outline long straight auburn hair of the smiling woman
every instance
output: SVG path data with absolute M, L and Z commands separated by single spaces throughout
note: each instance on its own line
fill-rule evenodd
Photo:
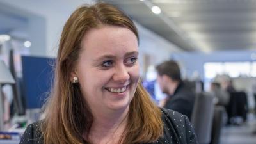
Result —
M 67 20 L 60 39 L 56 58 L 54 86 L 45 105 L 42 136 L 45 144 L 90 143 L 83 132 L 90 132 L 93 115 L 84 100 L 79 84 L 70 82 L 70 73 L 81 51 L 81 40 L 86 31 L 102 25 L 130 29 L 137 37 L 136 26 L 127 15 L 111 4 L 96 3 L 77 8 Z M 152 102 L 139 82 L 128 114 L 127 129 L 122 135 L 123 144 L 156 141 L 163 135 L 160 109 Z

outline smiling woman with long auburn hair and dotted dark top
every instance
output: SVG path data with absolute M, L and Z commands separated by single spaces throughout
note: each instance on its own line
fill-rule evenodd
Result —
M 159 109 L 139 76 L 138 31 L 106 3 L 66 22 L 46 117 L 20 143 L 197 143 L 186 116 Z

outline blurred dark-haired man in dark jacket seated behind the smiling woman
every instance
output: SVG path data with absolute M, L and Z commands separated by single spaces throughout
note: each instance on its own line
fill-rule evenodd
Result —
M 157 83 L 168 97 L 160 106 L 172 109 L 191 118 L 195 102 L 195 91 L 181 79 L 179 65 L 175 61 L 164 61 L 157 65 Z

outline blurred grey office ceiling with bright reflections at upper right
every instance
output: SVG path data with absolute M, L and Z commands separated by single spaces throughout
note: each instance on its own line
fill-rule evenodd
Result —
M 255 0 L 105 0 L 185 51 L 256 48 Z M 156 15 L 153 5 L 161 8 Z

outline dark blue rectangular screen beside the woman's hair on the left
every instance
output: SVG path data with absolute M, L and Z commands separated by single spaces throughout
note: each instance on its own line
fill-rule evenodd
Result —
M 54 77 L 54 58 L 22 56 L 22 77 L 26 108 L 42 108 Z

